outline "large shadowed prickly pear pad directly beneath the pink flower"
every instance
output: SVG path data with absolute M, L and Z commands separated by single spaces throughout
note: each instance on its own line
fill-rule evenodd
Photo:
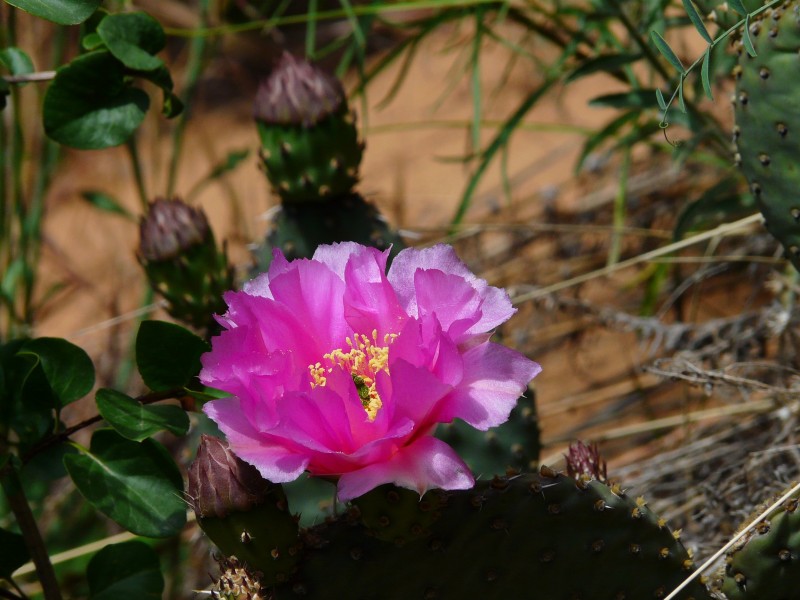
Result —
M 644 500 L 598 481 L 543 469 L 434 491 L 421 501 L 433 500 L 428 511 L 388 492 L 373 492 L 366 524 L 356 509 L 305 531 L 303 564 L 278 597 L 644 600 L 665 597 L 692 568 Z M 710 596 L 694 583 L 679 597 Z

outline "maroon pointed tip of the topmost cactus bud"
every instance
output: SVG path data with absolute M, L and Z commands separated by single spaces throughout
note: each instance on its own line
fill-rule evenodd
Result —
M 284 52 L 258 88 L 253 116 L 274 125 L 310 127 L 336 113 L 344 101 L 336 77 Z

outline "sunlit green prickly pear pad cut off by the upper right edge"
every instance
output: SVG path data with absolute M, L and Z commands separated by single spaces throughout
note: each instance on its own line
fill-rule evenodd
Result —
M 800 4 L 790 0 L 761 13 L 750 38 L 756 57 L 737 42 L 736 162 L 767 230 L 800 269 Z

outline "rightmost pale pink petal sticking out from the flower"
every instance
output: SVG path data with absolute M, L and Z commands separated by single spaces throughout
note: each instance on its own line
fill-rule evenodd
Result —
M 442 403 L 436 419 L 462 419 L 481 431 L 508 420 L 528 382 L 542 368 L 519 352 L 487 342 L 464 353 L 464 380 Z

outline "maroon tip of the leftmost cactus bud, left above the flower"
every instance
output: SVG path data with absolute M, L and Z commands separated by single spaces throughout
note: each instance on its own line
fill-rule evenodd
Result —
M 148 261 L 175 258 L 208 237 L 205 213 L 180 200 L 157 198 L 139 224 L 139 253 Z

